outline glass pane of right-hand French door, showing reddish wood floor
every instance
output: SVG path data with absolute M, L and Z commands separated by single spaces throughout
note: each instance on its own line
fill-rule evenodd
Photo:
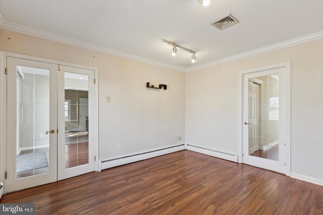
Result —
M 88 164 L 88 75 L 65 72 L 65 168 Z

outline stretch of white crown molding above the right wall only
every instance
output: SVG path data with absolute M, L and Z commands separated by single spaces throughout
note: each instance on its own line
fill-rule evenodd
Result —
M 305 42 L 309 42 L 309 41 L 313 41 L 313 40 L 317 40 L 317 39 L 322 39 L 322 38 L 323 38 L 323 31 L 319 31 L 319 32 L 316 32 L 316 33 L 312 33 L 312 34 L 302 36 L 302 37 L 297 37 L 295 39 L 287 40 L 285 42 L 277 43 L 277 44 L 274 44 L 274 45 L 254 49 L 254 50 L 247 51 L 247 52 L 237 54 L 237 55 L 234 55 L 234 56 L 226 57 L 226 58 L 223 58 L 223 59 L 220 59 L 220 60 L 212 61 L 212 62 L 209 62 L 209 63 L 204 63 L 204 64 L 201 64 L 201 65 L 198 65 L 198 66 L 191 66 L 191 67 L 187 68 L 185 71 L 187 73 L 189 73 L 190 71 L 196 71 L 196 70 L 199 70 L 199 69 L 202 69 L 202 68 L 207 68 L 207 67 L 211 67 L 211 66 L 214 66 L 214 65 L 219 65 L 219 64 L 223 64 L 223 63 L 243 59 L 243 58 L 246 58 L 246 57 L 251 57 L 251 56 L 254 56 L 254 55 L 258 55 L 258 54 L 262 54 L 262 53 L 266 53 L 266 52 L 274 51 L 274 50 L 277 50 L 277 49 L 282 49 L 282 48 L 286 48 L 286 47 L 290 47 L 290 46 L 293 46 L 293 45 L 297 45 L 297 44 L 301 44 L 301 43 L 305 43 Z

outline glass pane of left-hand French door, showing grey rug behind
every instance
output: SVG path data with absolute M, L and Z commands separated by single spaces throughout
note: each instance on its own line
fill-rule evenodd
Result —
M 17 66 L 16 178 L 49 172 L 49 69 Z

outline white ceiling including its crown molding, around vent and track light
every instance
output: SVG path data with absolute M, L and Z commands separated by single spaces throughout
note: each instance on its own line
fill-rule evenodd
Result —
M 239 23 L 210 24 L 229 13 Z M 0 28 L 192 71 L 323 38 L 323 0 L 0 0 Z M 196 62 L 161 39 L 195 51 Z

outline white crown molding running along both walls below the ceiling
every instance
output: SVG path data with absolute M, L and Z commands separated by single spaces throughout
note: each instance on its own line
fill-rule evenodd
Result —
M 223 64 L 223 63 L 243 59 L 246 57 L 251 57 L 254 55 L 258 55 L 258 54 L 274 51 L 277 49 L 286 48 L 289 46 L 293 46 L 293 45 L 297 45 L 297 44 L 301 44 L 301 43 L 305 43 L 305 42 L 309 42 L 312 40 L 317 40 L 317 39 L 323 38 L 323 31 L 319 31 L 319 32 L 308 34 L 308 35 L 298 37 L 295 39 L 287 40 L 285 42 L 277 43 L 277 44 L 266 46 L 263 48 L 254 49 L 254 50 L 247 51 L 247 52 L 244 52 L 241 54 L 226 57 L 226 58 L 223 58 L 220 60 L 216 60 L 216 61 L 212 61 L 209 63 L 204 63 L 204 64 L 200 64 L 200 65 L 196 65 L 196 66 L 190 66 L 187 68 L 185 66 L 174 66 L 174 65 L 170 65 L 170 64 L 166 64 L 166 63 L 161 63 L 161 62 L 150 60 L 147 58 L 138 57 L 138 56 L 135 56 L 132 54 L 127 54 L 127 53 L 124 53 L 121 51 L 116 51 L 116 50 L 113 50 L 110 48 L 104 48 L 102 46 L 82 42 L 79 40 L 71 39 L 71 38 L 60 36 L 57 34 L 52 34 L 52 33 L 38 30 L 38 29 L 29 28 L 26 26 L 7 22 L 7 21 L 3 20 L 1 14 L 0 14 L 0 28 L 6 29 L 6 30 L 11 30 L 11 31 L 16 31 L 19 33 L 24 33 L 24 34 L 28 34 L 28 35 L 32 35 L 32 36 L 36 36 L 36 37 L 41 37 L 44 39 L 49 39 L 49 40 L 53 40 L 53 41 L 57 41 L 57 42 L 62 42 L 65 44 L 69 44 L 69 45 L 73 45 L 73 46 L 77 46 L 77 47 L 81 47 L 81 48 L 86 48 L 89 50 L 98 51 L 98 52 L 105 53 L 105 54 L 111 54 L 114 56 L 123 57 L 126 59 L 135 60 L 138 62 L 150 64 L 150 65 L 155 65 L 155 66 L 159 66 L 159 67 L 163 67 L 163 68 L 167 68 L 167 69 L 181 71 L 183 73 L 189 73 L 191 71 L 196 71 L 196 70 L 211 67 L 214 65 L 219 65 L 219 64 Z

